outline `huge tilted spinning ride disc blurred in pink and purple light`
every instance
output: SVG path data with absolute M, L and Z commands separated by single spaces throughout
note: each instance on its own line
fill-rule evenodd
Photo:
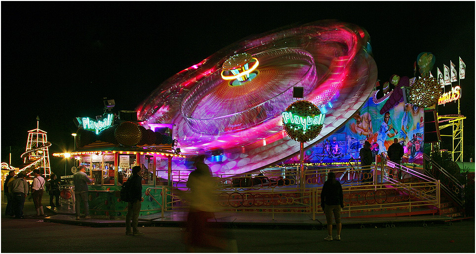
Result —
M 326 20 L 234 43 L 163 82 L 137 107 L 138 117 L 174 124 L 183 154 L 219 158 L 208 158 L 214 174 L 277 164 L 299 153 L 282 127 L 293 86 L 303 86 L 304 99 L 325 114 L 320 134 L 305 148 L 343 126 L 367 100 L 377 80 L 368 40 L 356 25 Z

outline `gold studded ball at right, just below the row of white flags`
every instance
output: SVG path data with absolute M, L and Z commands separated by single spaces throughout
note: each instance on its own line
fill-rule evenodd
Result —
M 410 89 L 413 105 L 428 108 L 435 105 L 441 96 L 441 86 L 435 78 L 421 78 Z

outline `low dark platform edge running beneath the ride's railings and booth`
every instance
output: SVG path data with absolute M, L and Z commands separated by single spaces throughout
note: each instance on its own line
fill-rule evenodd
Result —
M 48 207 L 50 209 L 50 207 Z M 139 226 L 184 226 L 188 212 L 164 212 L 139 216 Z M 353 212 L 351 216 L 341 214 L 341 222 L 347 226 L 385 226 L 394 227 L 394 223 L 413 222 L 422 223 L 435 221 L 444 223 L 449 217 L 435 215 L 431 209 L 413 209 L 412 212 L 378 211 Z M 72 213 L 57 213 L 43 219 L 46 222 L 74 224 L 90 227 L 125 227 L 124 219 L 109 219 L 105 216 L 94 216 L 90 219 L 77 220 Z M 324 213 L 318 213 L 313 220 L 312 214 L 306 213 L 254 213 L 254 212 L 215 212 L 215 217 L 209 219 L 212 224 L 221 227 L 295 227 L 295 228 L 322 228 L 326 226 Z

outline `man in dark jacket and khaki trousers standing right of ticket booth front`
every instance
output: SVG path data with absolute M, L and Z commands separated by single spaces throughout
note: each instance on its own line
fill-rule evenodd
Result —
M 130 199 L 127 204 L 127 215 L 125 216 L 126 235 L 144 235 L 144 233 L 139 232 L 139 229 L 137 228 L 137 222 L 139 221 L 139 212 L 141 211 L 142 202 L 142 177 L 140 176 L 140 170 L 140 166 L 133 167 L 132 176 L 127 179 L 127 184 L 130 185 Z

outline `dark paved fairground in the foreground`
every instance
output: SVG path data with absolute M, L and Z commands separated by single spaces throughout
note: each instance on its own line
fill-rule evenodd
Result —
M 44 200 L 48 199 L 48 196 Z M 43 202 L 47 204 L 48 202 Z M 2 202 L 2 253 L 183 253 L 183 227 L 143 227 L 144 236 L 126 236 L 122 227 L 86 227 L 5 217 Z M 26 202 L 25 214 L 34 214 Z M 325 242 L 326 230 L 285 226 L 223 230 L 237 239 L 240 253 L 475 253 L 475 220 L 345 226 L 341 241 Z M 334 233 L 335 234 L 335 233 Z M 214 250 L 198 250 L 217 252 Z

